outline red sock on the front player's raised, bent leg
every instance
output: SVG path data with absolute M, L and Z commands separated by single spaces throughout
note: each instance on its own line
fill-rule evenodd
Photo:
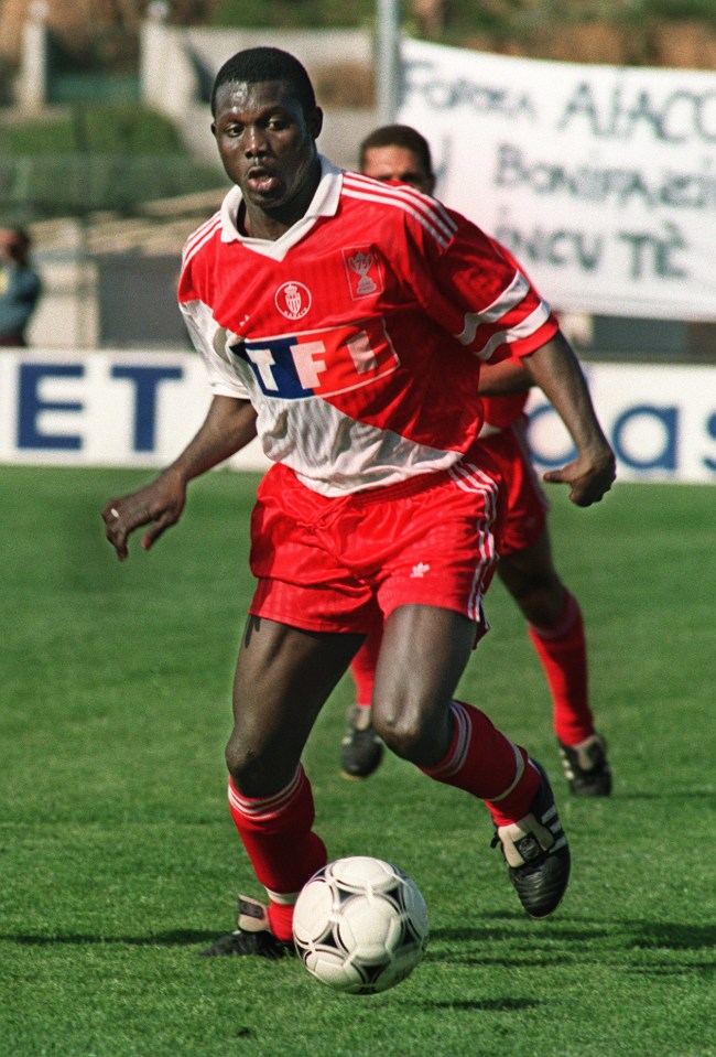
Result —
M 496 826 L 524 818 L 540 785 L 528 755 L 478 709 L 453 701 L 453 741 L 445 758 L 424 774 L 485 800 Z

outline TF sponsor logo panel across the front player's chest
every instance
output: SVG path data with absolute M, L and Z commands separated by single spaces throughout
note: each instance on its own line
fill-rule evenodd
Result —
M 250 368 L 264 396 L 282 400 L 349 392 L 400 365 L 380 319 L 240 342 L 231 354 Z

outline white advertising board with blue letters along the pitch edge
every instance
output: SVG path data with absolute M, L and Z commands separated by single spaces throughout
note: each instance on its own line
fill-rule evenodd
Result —
M 716 367 L 585 365 L 621 481 L 716 484 Z M 209 389 L 192 353 L 42 352 L 0 355 L 0 463 L 148 466 L 172 462 L 204 421 Z M 530 443 L 538 468 L 572 443 L 535 391 Z M 257 441 L 230 460 L 265 470 Z

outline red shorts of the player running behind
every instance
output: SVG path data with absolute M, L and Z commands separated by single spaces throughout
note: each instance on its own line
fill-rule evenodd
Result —
M 542 492 L 527 443 L 527 417 L 512 425 L 480 438 L 500 470 L 506 487 L 507 511 L 500 554 L 524 550 L 546 528 L 550 504 Z

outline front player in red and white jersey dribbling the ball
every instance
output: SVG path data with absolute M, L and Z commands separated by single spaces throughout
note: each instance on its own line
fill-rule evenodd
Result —
M 275 465 L 258 489 L 257 587 L 234 682 L 229 806 L 269 905 L 207 953 L 281 957 L 293 905 L 327 861 L 301 756 L 365 635 L 384 621 L 373 723 L 428 778 L 485 801 L 532 917 L 560 904 L 569 849 L 544 769 L 454 700 L 482 629 L 499 472 L 482 452 L 480 363 L 524 357 L 577 457 L 574 503 L 615 460 L 578 363 L 529 282 L 464 217 L 412 187 L 318 154 L 323 114 L 292 55 L 237 53 L 214 84 L 213 131 L 234 186 L 186 244 L 178 299 L 213 400 L 153 482 L 102 511 L 121 560 L 184 508 L 188 483 L 258 429 Z

